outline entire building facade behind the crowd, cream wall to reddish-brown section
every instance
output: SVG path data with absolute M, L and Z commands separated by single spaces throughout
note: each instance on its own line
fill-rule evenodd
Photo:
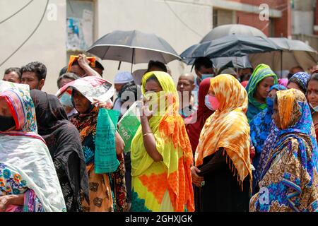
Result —
M 11 66 L 42 61 L 47 65 L 44 90 L 56 93 L 59 70 L 69 55 L 85 51 L 113 30 L 153 32 L 181 54 L 213 27 L 228 23 L 251 25 L 271 37 L 292 37 L 293 24 L 298 22 L 293 20 L 297 14 L 293 6 L 288 0 L 2 0 L 0 73 Z M 317 34 L 314 10 L 311 35 Z M 113 81 L 118 62 L 101 62 L 104 78 Z M 191 69 L 179 61 L 168 66 L 175 80 Z M 131 64 L 122 63 L 120 70 L 130 68 Z M 134 65 L 134 69 L 145 68 L 146 64 Z

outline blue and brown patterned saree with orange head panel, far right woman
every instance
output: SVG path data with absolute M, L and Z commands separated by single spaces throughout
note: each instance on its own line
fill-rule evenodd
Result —
M 317 212 L 317 141 L 305 95 L 277 92 L 281 129 L 259 182 L 250 211 Z

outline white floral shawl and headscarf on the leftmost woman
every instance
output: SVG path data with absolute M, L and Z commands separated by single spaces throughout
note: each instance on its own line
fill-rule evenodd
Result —
M 49 150 L 37 135 L 35 108 L 28 89 L 0 86 L 0 98 L 6 100 L 16 122 L 15 130 L 0 133 L 1 196 L 25 194 L 23 208 L 11 206 L 8 210 L 66 211 Z

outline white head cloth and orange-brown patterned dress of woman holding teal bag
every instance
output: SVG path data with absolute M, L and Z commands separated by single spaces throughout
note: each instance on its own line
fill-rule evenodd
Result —
M 111 97 L 114 94 L 114 88 L 105 79 L 93 76 L 79 78 L 64 85 L 61 90 L 65 91 L 69 88 L 78 90 L 90 102 L 93 102 L 93 98 L 107 101 L 107 108 L 112 108 L 111 102 L 107 97 Z M 122 212 L 127 208 L 124 156 L 117 155 L 120 164 L 115 172 L 95 173 L 95 137 L 98 108 L 91 106 L 90 109 L 87 114 L 77 114 L 71 119 L 81 136 L 86 171 L 88 172 L 90 202 L 88 203 L 82 197 L 83 211 Z

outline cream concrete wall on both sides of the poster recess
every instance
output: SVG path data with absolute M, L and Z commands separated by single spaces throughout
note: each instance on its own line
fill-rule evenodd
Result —
M 0 1 L 0 21 L 25 6 L 29 0 Z M 163 37 L 181 54 L 184 49 L 201 40 L 212 29 L 212 6 L 208 0 L 94 0 L 95 40 L 113 30 L 141 30 Z M 0 64 L 35 29 L 45 8 L 45 0 L 34 0 L 16 16 L 0 24 Z M 57 91 L 59 70 L 66 65 L 66 0 L 50 0 L 57 6 L 56 20 L 49 20 L 49 10 L 30 40 L 6 63 L 0 66 L 0 76 L 11 66 L 23 66 L 30 61 L 42 61 L 47 66 L 44 90 Z M 177 15 L 177 16 L 176 16 Z M 184 25 L 186 24 L 186 25 Z M 194 31 L 189 30 L 192 28 Z M 113 81 L 117 73 L 117 61 L 102 61 L 104 76 Z M 189 66 L 172 61 L 168 64 L 177 80 Z M 146 68 L 146 64 L 134 65 L 134 69 Z M 122 63 L 121 71 L 130 71 L 131 64 Z

